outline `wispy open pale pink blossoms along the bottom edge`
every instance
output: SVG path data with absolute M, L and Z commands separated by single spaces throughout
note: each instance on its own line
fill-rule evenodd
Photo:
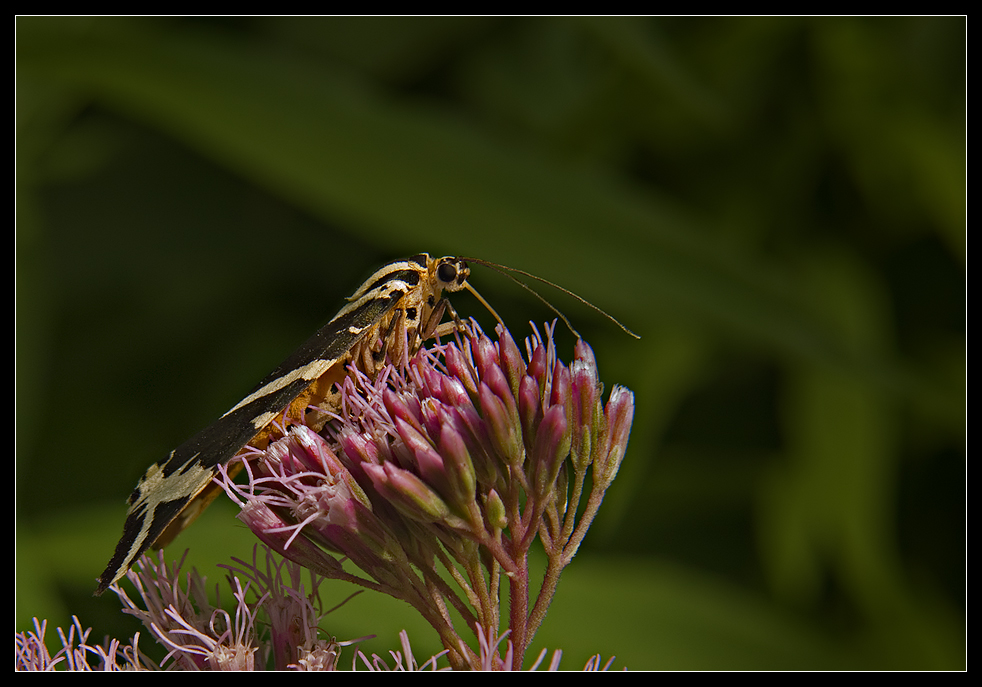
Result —
M 53 654 L 45 642 L 47 621 L 39 622 L 35 618 L 33 631 L 15 633 L 14 668 L 18 671 L 335 670 L 341 647 L 355 642 L 337 642 L 318 636 L 317 624 L 324 615 L 318 610 L 317 588 L 321 578 L 310 575 L 312 591 L 307 594 L 301 582 L 300 566 L 283 559 L 277 562 L 279 557 L 265 547 L 262 549 L 265 554 L 262 562 L 254 552 L 252 563 L 236 561 L 234 566 L 222 566 L 231 572 L 228 582 L 235 601 L 231 613 L 221 608 L 217 588 L 212 602 L 205 594 L 204 578 L 196 570 L 182 574 L 181 561 L 167 565 L 162 552 L 156 558 L 142 556 L 135 569 L 127 573 L 137 589 L 139 602 L 132 601 L 119 584 L 110 587 L 123 601 L 125 612 L 139 618 L 151 636 L 168 650 L 160 664 L 140 650 L 139 632 L 130 644 L 124 645 L 116 639 L 92 644 L 91 628 L 83 629 L 73 616 L 67 632 L 57 628 L 62 648 Z M 478 635 L 478 667 L 488 670 L 502 667 L 497 645 L 488 642 L 480 629 Z M 405 631 L 399 639 L 402 650 L 389 652 L 391 666 L 377 654 L 369 657 L 358 651 L 352 658 L 352 669 L 361 666 L 371 671 L 443 670 L 438 667 L 438 661 L 446 651 L 420 664 Z M 498 643 L 503 639 L 499 638 Z M 507 655 L 512 650 L 509 643 Z M 538 669 L 545 654 L 543 650 L 531 670 Z M 554 652 L 547 669 L 558 670 L 561 657 L 561 651 Z M 597 655 L 587 661 L 584 670 L 606 670 L 609 666 L 610 662 L 602 665 Z

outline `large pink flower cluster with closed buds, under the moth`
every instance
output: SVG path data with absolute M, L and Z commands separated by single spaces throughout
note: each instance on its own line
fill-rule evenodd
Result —
M 497 646 L 506 583 L 508 667 L 520 667 L 617 474 L 634 401 L 614 387 L 602 403 L 583 341 L 567 367 L 549 328 L 545 337 L 533 330 L 523 358 L 503 327 L 496 342 L 471 327 L 464 343 L 421 350 L 374 380 L 353 368 L 341 412 L 323 431 L 292 427 L 245 456 L 248 484 L 226 474 L 224 485 L 274 551 L 416 608 L 453 667 L 483 662 L 449 608 Z M 548 565 L 533 602 L 528 555 L 537 540 Z

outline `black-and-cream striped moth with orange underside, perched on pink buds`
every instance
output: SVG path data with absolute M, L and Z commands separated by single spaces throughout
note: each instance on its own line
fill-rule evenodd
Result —
M 348 304 L 269 373 L 255 389 L 146 471 L 129 498 L 123 536 L 99 578 L 96 595 L 126 574 L 155 543 L 166 545 L 217 495 L 218 466 L 243 447 L 265 447 L 284 411 L 302 417 L 308 406 L 330 405 L 331 387 L 353 363 L 374 376 L 386 353 L 402 358 L 438 331 L 442 293 L 466 287 L 470 271 L 459 258 L 422 253 L 375 272 Z M 449 324 L 449 323 L 448 323 Z

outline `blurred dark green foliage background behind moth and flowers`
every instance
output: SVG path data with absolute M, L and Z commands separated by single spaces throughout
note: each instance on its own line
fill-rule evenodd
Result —
M 379 263 L 427 251 L 642 336 L 536 285 L 637 398 L 536 650 L 963 668 L 965 31 L 18 18 L 17 629 L 131 635 L 91 592 L 139 475 Z M 552 319 L 472 282 L 516 334 Z M 216 504 L 185 546 L 220 580 L 251 541 Z M 325 626 L 437 649 L 371 596 Z

